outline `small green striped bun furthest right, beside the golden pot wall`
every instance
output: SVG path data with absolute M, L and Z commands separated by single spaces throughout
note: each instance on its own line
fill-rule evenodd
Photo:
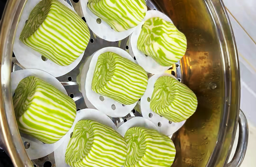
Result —
M 155 82 L 150 108 L 169 121 L 181 122 L 196 111 L 197 98 L 194 92 L 172 76 L 161 76 Z

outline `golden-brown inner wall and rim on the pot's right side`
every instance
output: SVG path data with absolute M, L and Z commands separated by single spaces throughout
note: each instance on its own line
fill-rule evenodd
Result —
M 177 154 L 172 167 L 223 166 L 232 146 L 240 98 L 229 20 L 217 0 L 155 2 L 187 37 L 182 82 L 198 98 L 197 111 L 173 136 Z

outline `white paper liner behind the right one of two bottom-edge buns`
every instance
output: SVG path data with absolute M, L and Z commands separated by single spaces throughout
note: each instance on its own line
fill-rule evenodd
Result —
M 147 129 L 154 129 L 159 131 L 157 127 L 150 120 L 143 117 L 134 117 L 128 120 L 127 122 L 120 125 L 117 131 L 124 137 L 126 131 L 128 131 L 128 129 L 132 127 L 145 127 Z

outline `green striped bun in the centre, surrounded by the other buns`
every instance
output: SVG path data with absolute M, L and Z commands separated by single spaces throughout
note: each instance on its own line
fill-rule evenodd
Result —
M 131 105 L 143 96 L 147 80 L 147 73 L 141 66 L 116 53 L 105 52 L 98 57 L 92 91 Z

